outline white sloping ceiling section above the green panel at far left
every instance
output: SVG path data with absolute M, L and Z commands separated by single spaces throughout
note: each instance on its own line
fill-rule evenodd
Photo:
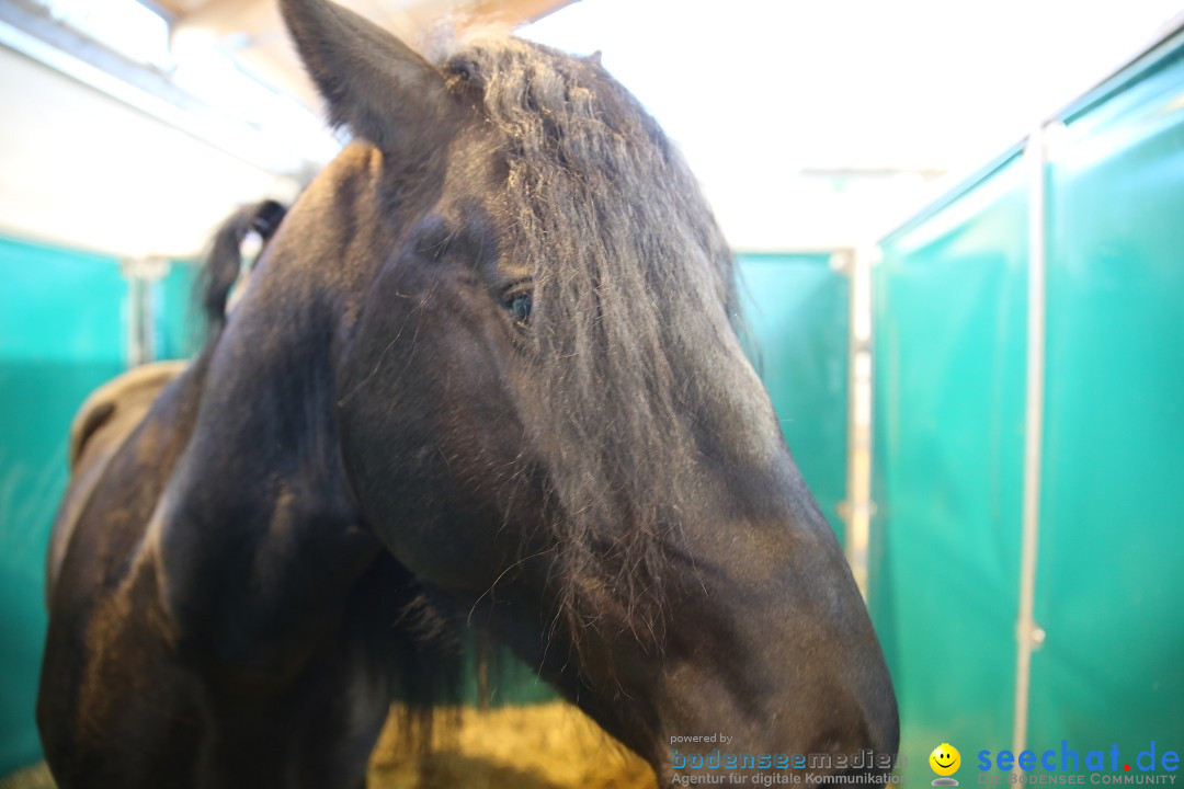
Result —
M 298 183 L 0 47 L 0 232 L 117 256 L 200 250 Z

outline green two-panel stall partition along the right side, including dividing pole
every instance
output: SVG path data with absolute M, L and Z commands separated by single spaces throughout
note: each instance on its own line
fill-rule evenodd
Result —
M 884 239 L 874 273 L 873 617 L 902 754 L 924 765 L 948 742 L 964 781 L 1016 733 L 1024 405 L 1041 381 L 1024 745 L 1058 770 L 1062 743 L 1081 771 L 1103 751 L 1098 782 L 1184 751 L 1184 37 L 1060 121 L 1042 135 L 1042 202 L 1010 156 Z M 1041 215 L 1044 368 L 1029 382 Z

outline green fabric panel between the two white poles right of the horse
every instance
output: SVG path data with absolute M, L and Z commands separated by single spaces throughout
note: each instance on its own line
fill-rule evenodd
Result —
M 1027 193 L 1016 160 L 882 244 L 874 270 L 871 614 L 901 754 L 1010 745 Z M 932 776 L 929 776 L 932 777 Z

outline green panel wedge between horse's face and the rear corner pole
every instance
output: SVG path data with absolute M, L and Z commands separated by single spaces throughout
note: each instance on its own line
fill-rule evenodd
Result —
M 850 283 L 830 254 L 741 254 L 749 356 L 818 506 L 843 539 Z

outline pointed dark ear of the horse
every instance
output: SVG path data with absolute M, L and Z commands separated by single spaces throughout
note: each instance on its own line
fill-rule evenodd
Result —
M 431 140 L 448 111 L 444 78 L 406 44 L 328 0 L 281 0 L 334 125 L 385 151 Z

